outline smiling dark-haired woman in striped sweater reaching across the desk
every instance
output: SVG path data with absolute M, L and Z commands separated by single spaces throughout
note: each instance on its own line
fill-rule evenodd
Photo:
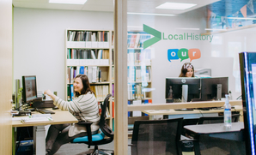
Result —
M 50 90 L 46 90 L 44 93 L 52 98 L 53 104 L 59 109 L 69 110 L 73 116 L 76 116 L 78 122 L 93 122 L 91 125 L 92 134 L 96 134 L 100 128 L 100 115 L 97 99 L 90 88 L 87 75 L 77 75 L 73 86 L 75 98 L 70 102 L 58 98 Z M 86 135 L 86 128 L 82 125 L 51 125 L 46 136 L 46 154 L 54 154 L 60 146 Z

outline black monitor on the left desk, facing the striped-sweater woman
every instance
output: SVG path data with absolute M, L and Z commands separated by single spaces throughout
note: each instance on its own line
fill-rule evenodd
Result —
M 22 101 L 24 104 L 37 98 L 36 76 L 22 76 Z

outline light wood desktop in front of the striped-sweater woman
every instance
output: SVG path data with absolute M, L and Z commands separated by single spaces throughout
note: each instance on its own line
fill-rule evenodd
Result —
M 52 110 L 47 109 L 47 110 Z M 50 124 L 63 124 L 63 123 L 76 123 L 78 122 L 76 117 L 70 114 L 68 110 L 52 110 L 55 114 L 52 114 L 53 121 L 47 122 L 26 122 L 22 123 L 21 121 L 12 121 L 12 127 L 30 127 L 30 126 L 45 126 Z M 33 114 L 39 114 L 38 112 L 34 111 Z

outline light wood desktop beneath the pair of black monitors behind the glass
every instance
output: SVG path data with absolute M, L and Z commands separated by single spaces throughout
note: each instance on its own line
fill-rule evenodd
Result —
M 235 109 L 232 111 L 241 111 L 241 105 L 235 105 Z M 216 112 L 223 112 L 222 110 L 186 110 L 186 111 L 178 111 L 178 110 L 143 110 L 143 113 L 148 114 L 149 116 L 152 115 L 180 115 L 180 114 L 200 114 L 200 113 L 216 113 Z

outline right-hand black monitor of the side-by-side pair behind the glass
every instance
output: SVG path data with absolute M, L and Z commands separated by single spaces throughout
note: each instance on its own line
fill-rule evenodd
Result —
M 229 93 L 229 77 L 211 77 L 201 79 L 201 100 L 221 100 Z

